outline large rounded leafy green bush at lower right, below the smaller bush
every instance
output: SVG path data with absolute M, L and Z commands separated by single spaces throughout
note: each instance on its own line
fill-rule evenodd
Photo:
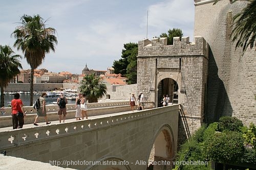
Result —
M 240 132 L 216 132 L 205 141 L 205 155 L 216 162 L 233 163 L 244 154 L 244 138 Z

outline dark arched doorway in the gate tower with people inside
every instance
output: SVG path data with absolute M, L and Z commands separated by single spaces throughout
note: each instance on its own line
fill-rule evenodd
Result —
M 169 104 L 178 104 L 178 89 L 179 85 L 176 80 L 172 78 L 165 78 L 162 79 L 158 83 L 158 107 L 162 107 L 162 103 L 160 102 L 163 99 L 163 95 L 168 95 L 169 97 Z

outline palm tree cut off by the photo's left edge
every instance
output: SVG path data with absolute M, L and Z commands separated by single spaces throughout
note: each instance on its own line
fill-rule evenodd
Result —
M 8 85 L 8 82 L 19 74 L 19 69 L 22 69 L 17 58 L 22 58 L 20 55 L 14 55 L 12 48 L 8 45 L 0 45 L 0 87 L 1 87 L 1 103 L 0 107 L 5 105 L 4 87 Z

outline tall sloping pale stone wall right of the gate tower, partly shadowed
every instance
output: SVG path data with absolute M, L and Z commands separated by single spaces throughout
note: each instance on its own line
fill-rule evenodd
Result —
M 245 1 L 195 1 L 195 36 L 208 42 L 207 122 L 224 115 L 236 116 L 246 125 L 256 123 L 256 52 L 247 49 L 240 59 L 229 39 L 232 17 L 246 6 Z

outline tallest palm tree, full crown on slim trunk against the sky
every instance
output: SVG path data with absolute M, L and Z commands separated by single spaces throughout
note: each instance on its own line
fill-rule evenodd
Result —
M 56 30 L 46 28 L 44 19 L 39 15 L 23 15 L 21 18 L 22 26 L 16 27 L 12 36 L 16 38 L 14 47 L 22 50 L 25 58 L 31 67 L 30 72 L 30 105 L 33 104 L 34 89 L 34 69 L 41 65 L 46 54 L 50 51 L 55 52 L 55 44 L 58 43 L 55 37 Z

